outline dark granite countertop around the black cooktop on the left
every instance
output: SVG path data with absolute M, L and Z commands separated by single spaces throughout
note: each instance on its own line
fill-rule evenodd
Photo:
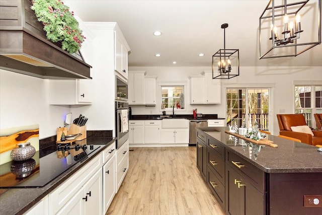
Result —
M 103 144 L 104 139 L 108 142 Z M 101 153 L 105 148 L 111 145 L 117 138 L 116 137 L 90 137 L 87 138 L 88 145 L 100 145 L 101 147 L 89 155 L 87 159 L 84 159 L 68 170 L 60 174 L 58 177 L 50 181 L 43 187 L 39 188 L 9 188 L 0 189 L 0 214 L 23 214 L 36 203 L 38 203 L 42 198 L 49 194 L 52 190 L 62 184 L 75 172 L 81 169 L 85 164 L 90 162 L 99 153 Z

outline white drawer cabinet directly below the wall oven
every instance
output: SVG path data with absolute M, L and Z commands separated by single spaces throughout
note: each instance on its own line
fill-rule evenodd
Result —
M 116 150 L 116 192 L 119 190 L 129 167 L 129 140 Z

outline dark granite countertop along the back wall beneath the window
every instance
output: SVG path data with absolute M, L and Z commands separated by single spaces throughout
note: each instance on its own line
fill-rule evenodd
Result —
M 193 118 L 192 114 L 167 115 L 169 119 L 189 119 L 189 120 L 207 120 L 207 119 L 225 119 L 218 118 L 217 114 L 202 114 L 202 117 Z M 132 115 L 129 120 L 162 120 L 161 115 Z M 168 118 L 166 118 L 168 119 Z

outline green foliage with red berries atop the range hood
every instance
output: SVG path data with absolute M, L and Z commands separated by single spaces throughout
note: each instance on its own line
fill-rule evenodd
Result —
M 75 53 L 82 47 L 86 37 L 73 17 L 74 12 L 70 12 L 61 0 L 33 0 L 31 10 L 43 23 L 48 40 L 61 42 L 61 48 L 69 53 Z

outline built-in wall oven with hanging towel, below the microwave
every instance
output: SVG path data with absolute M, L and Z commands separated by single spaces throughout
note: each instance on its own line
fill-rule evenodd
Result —
M 124 101 L 115 101 L 115 135 L 116 149 L 120 148 L 129 138 L 129 130 L 122 129 L 122 110 L 127 110 L 127 124 L 129 119 L 129 104 Z

